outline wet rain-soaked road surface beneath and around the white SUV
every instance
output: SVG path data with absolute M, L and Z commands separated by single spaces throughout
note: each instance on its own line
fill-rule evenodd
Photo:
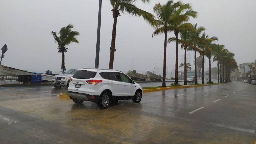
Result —
M 144 93 L 106 110 L 61 100 L 65 88 L 0 88 L 0 144 L 254 144 L 256 85 Z

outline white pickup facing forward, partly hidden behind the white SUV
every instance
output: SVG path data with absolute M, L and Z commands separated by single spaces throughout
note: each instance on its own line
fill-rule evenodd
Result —
M 71 69 L 65 72 L 64 74 L 56 75 L 52 79 L 52 84 L 56 88 L 60 88 L 62 86 L 66 86 L 68 88 L 69 86 L 69 79 L 73 76 L 73 74 L 76 72 L 76 69 Z

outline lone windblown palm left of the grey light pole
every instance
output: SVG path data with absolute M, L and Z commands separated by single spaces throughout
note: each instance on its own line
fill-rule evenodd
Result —
M 66 46 L 68 46 L 71 42 L 79 43 L 76 39 L 76 36 L 79 35 L 79 32 L 72 31 L 72 28 L 74 28 L 74 26 L 71 24 L 67 25 L 66 27 L 62 27 L 58 33 L 59 37 L 57 36 L 56 32 L 51 32 L 55 42 L 58 44 L 58 53 L 62 54 L 61 70 L 63 72 L 66 70 L 64 53 L 69 50 Z

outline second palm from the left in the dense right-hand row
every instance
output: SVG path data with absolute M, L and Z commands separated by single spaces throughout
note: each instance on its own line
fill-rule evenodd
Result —
M 175 9 L 173 13 L 172 21 L 169 26 L 172 29 L 172 31 L 174 31 L 174 34 L 176 36 L 176 60 L 175 60 L 174 84 L 178 84 L 178 54 L 179 54 L 178 35 L 181 31 L 192 29 L 192 24 L 185 23 L 189 21 L 190 17 L 196 18 L 197 12 L 191 9 L 191 4 L 189 3 L 182 4 L 180 7 Z

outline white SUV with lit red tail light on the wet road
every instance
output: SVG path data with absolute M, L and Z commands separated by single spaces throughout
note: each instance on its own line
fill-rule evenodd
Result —
M 105 109 L 118 100 L 139 103 L 142 87 L 121 71 L 81 69 L 70 79 L 68 96 L 77 104 L 92 101 Z

